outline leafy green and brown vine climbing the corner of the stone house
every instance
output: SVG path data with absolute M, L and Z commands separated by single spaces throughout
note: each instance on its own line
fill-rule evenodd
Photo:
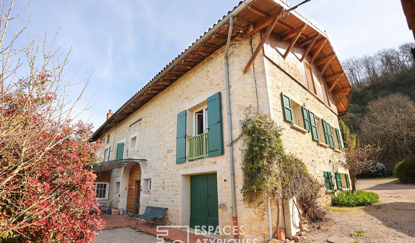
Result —
M 236 140 L 242 138 L 245 146 L 241 189 L 244 202 L 261 204 L 269 198 L 296 196 L 305 215 L 311 221 L 320 221 L 324 213 L 316 200 L 322 185 L 300 159 L 284 152 L 281 131 L 271 116 L 263 112 L 247 115 L 242 121 L 242 134 Z

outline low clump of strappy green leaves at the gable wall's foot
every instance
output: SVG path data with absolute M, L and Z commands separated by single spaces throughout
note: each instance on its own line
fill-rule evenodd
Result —
M 379 201 L 379 195 L 371 191 L 342 191 L 332 196 L 334 205 L 342 207 L 354 207 L 374 204 Z

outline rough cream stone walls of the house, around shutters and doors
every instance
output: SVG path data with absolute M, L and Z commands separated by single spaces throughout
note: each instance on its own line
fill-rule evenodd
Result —
M 252 38 L 252 46 L 256 47 L 260 34 Z M 274 64 L 263 52 L 256 57 L 254 69 L 247 74 L 243 69 L 251 57 L 251 40 L 235 38 L 229 47 L 229 84 L 230 104 L 232 115 L 232 134 L 237 137 L 241 133 L 241 120 L 245 118 L 247 108 L 259 109 L 269 113 L 284 130 L 283 146 L 305 162 L 309 172 L 323 182 L 322 171 L 347 173 L 339 167 L 341 153 L 331 148 L 325 148 L 312 141 L 310 133 L 301 133 L 290 127 L 283 120 L 281 108 L 281 92 L 288 93 L 306 107 L 312 107 L 338 128 L 337 115 L 324 105 L 316 96 L 304 88 L 298 81 L 288 75 L 283 69 Z M 218 204 L 226 207 L 219 209 L 219 226 L 232 226 L 232 194 L 230 184 L 229 151 L 224 146 L 224 155 L 206 157 L 199 160 L 186 161 L 176 164 L 176 118 L 183 110 L 202 103 L 217 92 L 222 93 L 222 130 L 224 145 L 229 144 L 227 129 L 227 112 L 225 98 L 224 51 L 220 48 L 207 57 L 195 68 L 187 72 L 164 91 L 148 101 L 128 118 L 107 131 L 102 137 L 105 147 L 111 147 L 110 160 L 115 160 L 117 143 L 125 142 L 124 158 L 145 159 L 140 162 L 142 176 L 141 185 L 145 179 L 152 181 L 150 193 L 141 194 L 140 212 L 145 206 L 168 207 L 166 223 L 168 225 L 188 225 L 190 208 L 190 175 L 217 173 Z M 135 121 L 141 119 L 140 122 Z M 130 137 L 137 135 L 136 146 L 130 149 Z M 234 145 L 235 184 L 237 193 L 238 225 L 244 226 L 245 234 L 241 238 L 258 238 L 264 242 L 269 237 L 269 216 L 266 202 L 257 205 L 245 205 L 242 202 L 242 141 Z M 112 169 L 110 178 L 110 200 L 112 206 L 125 208 L 127 204 L 128 174 L 131 166 Z M 120 182 L 120 193 L 115 194 L 115 183 Z M 325 192 L 322 192 L 325 193 Z M 330 194 L 325 193 L 325 204 L 329 203 Z M 283 215 L 278 215 L 278 207 L 282 211 L 281 201 L 271 200 L 271 215 L 273 231 L 277 228 L 280 217 L 280 227 L 284 226 Z M 221 238 L 229 238 L 222 234 Z

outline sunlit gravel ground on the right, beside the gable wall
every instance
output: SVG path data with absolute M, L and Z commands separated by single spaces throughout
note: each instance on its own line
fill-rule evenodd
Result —
M 415 184 L 397 184 L 395 178 L 359 179 L 357 189 L 380 197 L 372 206 L 330 208 L 330 221 L 312 231 L 302 242 L 325 243 L 331 236 L 347 236 L 356 242 L 415 243 Z M 356 236 L 359 230 L 364 236 Z M 362 231 L 361 231 L 362 232 Z

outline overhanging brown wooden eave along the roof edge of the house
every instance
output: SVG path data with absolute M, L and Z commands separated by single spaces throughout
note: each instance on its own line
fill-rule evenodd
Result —
M 239 5 L 242 2 L 239 3 Z M 285 0 L 255 0 L 252 2 L 250 7 L 245 7 L 244 10 L 239 12 L 236 16 L 234 16 L 234 28 L 232 31 L 232 37 L 240 36 L 244 37 L 245 33 L 250 32 L 255 25 L 266 20 L 269 17 L 275 16 L 275 13 L 281 10 L 281 8 L 288 9 L 292 7 L 288 4 Z M 236 7 L 235 7 L 236 8 Z M 231 11 L 232 12 L 232 11 Z M 231 14 L 228 12 L 228 15 Z M 225 18 L 226 16 L 223 16 Z M 219 20 L 217 23 L 219 23 Z M 305 28 L 299 28 L 302 25 L 306 25 Z M 216 25 L 216 24 L 215 24 Z M 179 62 L 178 64 L 174 64 L 172 69 L 168 72 L 164 72 L 167 67 L 173 65 L 173 63 L 183 55 L 190 47 L 193 47 L 198 39 L 193 42 L 186 50 L 184 50 L 179 56 L 176 57 L 173 61 L 171 61 L 166 67 L 159 72 L 151 81 L 146 83 L 144 87 L 137 92 L 132 98 L 130 98 L 121 108 L 119 108 L 114 115 L 105 121 L 103 125 L 98 128 L 92 136 L 92 140 L 97 140 L 101 137 L 107 130 L 114 127 L 116 124 L 122 122 L 125 118 L 129 115 L 134 113 L 140 107 L 142 107 L 147 101 L 151 100 L 154 96 L 162 92 L 165 88 L 170 86 L 173 82 L 179 79 L 181 76 L 186 74 L 188 71 L 193 69 L 197 66 L 200 62 L 202 62 L 207 56 L 210 56 L 212 53 L 217 51 L 220 47 L 226 44 L 226 37 L 229 31 L 229 23 L 227 25 L 223 25 L 220 29 L 218 29 L 215 33 L 212 33 L 211 29 L 215 26 L 213 25 L 207 32 L 203 34 L 209 34 L 210 37 L 207 38 L 202 44 L 199 44 L 195 49 L 190 52 L 184 59 Z M 265 26 L 265 29 L 267 26 Z M 301 33 L 296 35 L 292 34 L 294 29 L 302 29 Z M 257 32 L 259 30 L 255 30 Z M 282 36 L 292 35 L 293 37 L 297 38 L 294 44 L 298 46 L 298 44 L 303 43 L 303 47 L 307 48 L 308 44 L 304 44 L 305 42 L 311 43 L 309 40 L 315 38 L 317 34 L 319 34 L 319 38 L 315 41 L 314 44 L 327 39 L 326 33 L 320 29 L 317 25 L 313 22 L 308 20 L 304 15 L 302 15 L 297 10 L 292 11 L 290 15 L 283 19 L 282 17 L 278 19 L 278 22 L 272 29 L 273 33 L 279 34 Z M 203 37 L 203 36 L 200 36 Z M 291 37 L 291 38 L 293 38 Z M 290 39 L 288 38 L 290 41 Z M 292 41 L 292 40 L 291 40 Z M 314 55 L 316 52 L 315 48 L 310 48 L 308 55 Z M 325 59 L 329 56 L 335 55 L 335 52 L 330 44 L 330 41 L 321 48 L 321 51 L 316 56 L 316 61 Z M 321 61 L 320 61 L 321 62 Z M 324 64 L 320 65 L 320 69 L 324 66 Z M 332 78 L 333 75 L 338 75 L 344 73 L 342 65 L 340 64 L 337 55 L 334 59 L 331 60 L 330 65 L 322 72 L 322 76 L 326 78 L 327 84 L 329 87 L 336 81 Z M 163 75 L 163 76 L 161 76 Z M 351 87 L 349 80 L 347 79 L 347 75 L 343 75 L 342 77 L 337 80 L 335 86 L 332 88 L 332 91 L 339 91 L 345 88 Z M 337 106 L 338 113 L 346 113 L 347 107 L 349 104 L 350 99 L 350 91 L 349 93 L 342 98 L 343 94 L 334 95 L 335 102 L 339 103 Z

